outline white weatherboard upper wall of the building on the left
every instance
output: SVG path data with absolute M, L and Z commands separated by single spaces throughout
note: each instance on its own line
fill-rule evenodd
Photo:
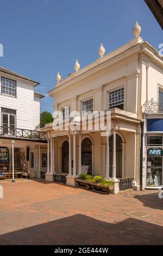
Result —
M 16 97 L 1 94 L 1 73 L 0 73 L 0 117 L 1 107 L 16 110 L 16 127 L 20 129 L 34 130 L 40 125 L 40 102 L 39 97 L 34 99 L 34 86 L 31 82 L 24 82 L 12 76 L 3 77 L 16 80 Z M 1 118 L 0 118 L 1 125 Z

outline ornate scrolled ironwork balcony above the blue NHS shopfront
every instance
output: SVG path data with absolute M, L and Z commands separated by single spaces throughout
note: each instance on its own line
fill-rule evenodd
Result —
M 146 101 L 142 105 L 142 112 L 149 114 L 149 113 L 163 113 L 163 103 L 155 102 L 153 99 L 150 101 Z

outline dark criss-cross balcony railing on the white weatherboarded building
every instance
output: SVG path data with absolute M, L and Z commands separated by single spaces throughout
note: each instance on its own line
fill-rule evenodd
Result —
M 46 140 L 46 133 L 42 131 L 17 129 L 14 127 L 0 126 L 0 136 Z

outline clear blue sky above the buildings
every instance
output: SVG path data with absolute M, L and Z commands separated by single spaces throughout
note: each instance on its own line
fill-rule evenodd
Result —
M 0 66 L 40 82 L 47 95 L 55 75 L 66 77 L 79 60 L 81 68 L 133 38 L 138 21 L 141 37 L 158 49 L 162 30 L 143 0 L 1 0 Z M 52 112 L 52 99 L 41 100 L 41 111 Z

